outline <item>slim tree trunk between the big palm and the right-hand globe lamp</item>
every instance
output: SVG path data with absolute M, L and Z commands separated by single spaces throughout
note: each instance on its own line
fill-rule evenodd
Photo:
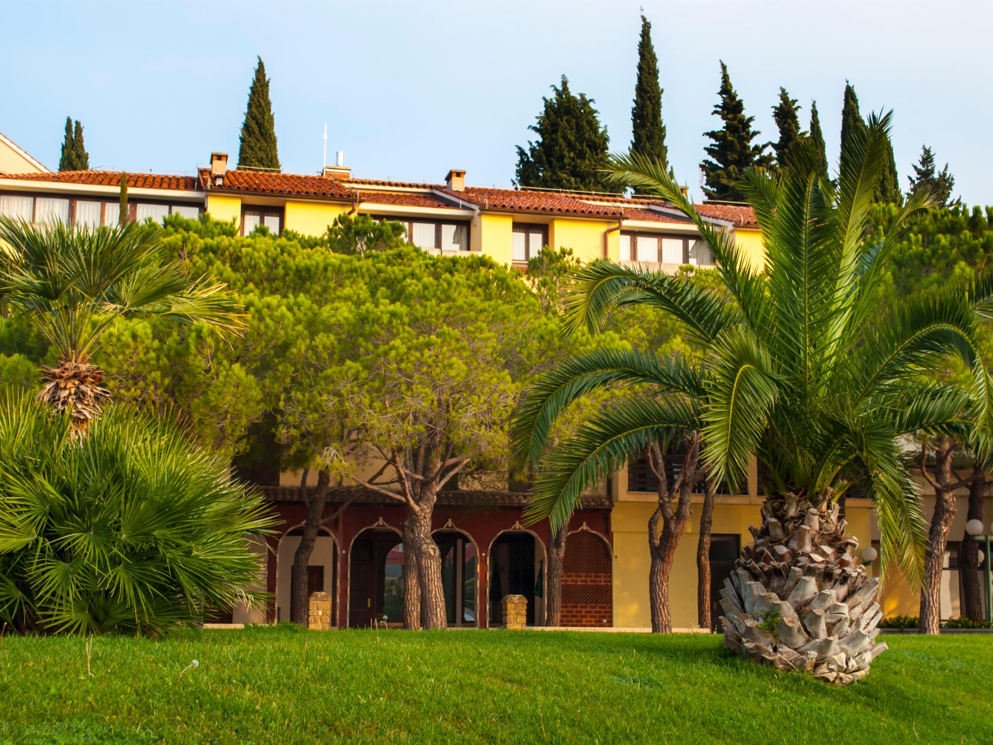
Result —
M 926 445 L 924 446 L 926 447 Z M 934 488 L 934 514 L 927 531 L 927 552 L 924 554 L 924 586 L 921 590 L 922 634 L 941 633 L 941 571 L 944 551 L 948 545 L 948 530 L 955 519 L 955 486 L 951 473 L 952 445 L 940 440 L 934 448 L 934 476 L 928 478 Z M 926 476 L 926 467 L 922 463 Z

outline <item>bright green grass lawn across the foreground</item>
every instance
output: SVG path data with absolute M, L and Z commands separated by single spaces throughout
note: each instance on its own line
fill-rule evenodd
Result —
M 83 640 L 7 636 L 0 743 L 993 742 L 993 638 L 887 642 L 836 688 L 706 636 L 97 637 L 89 677 Z

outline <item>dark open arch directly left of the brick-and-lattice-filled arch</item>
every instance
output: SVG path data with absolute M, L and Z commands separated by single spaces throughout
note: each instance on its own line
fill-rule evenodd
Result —
M 545 545 L 529 530 L 504 530 L 490 545 L 490 625 L 503 623 L 500 601 L 506 595 L 527 600 L 527 625 L 543 619 Z

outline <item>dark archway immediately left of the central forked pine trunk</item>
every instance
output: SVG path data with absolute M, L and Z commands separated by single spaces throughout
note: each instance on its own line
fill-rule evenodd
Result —
M 392 528 L 355 536 L 349 561 L 349 626 L 403 625 L 403 543 Z

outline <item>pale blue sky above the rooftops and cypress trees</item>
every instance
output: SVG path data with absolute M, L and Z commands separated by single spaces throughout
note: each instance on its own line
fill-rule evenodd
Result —
M 236 159 L 255 56 L 272 79 L 286 171 L 344 150 L 354 173 L 507 185 L 549 85 L 596 99 L 613 149 L 631 140 L 638 7 L 652 22 L 670 159 L 699 194 L 702 133 L 723 59 L 762 140 L 784 85 L 815 98 L 837 158 L 845 78 L 863 113 L 895 109 L 901 188 L 922 143 L 956 194 L 993 204 L 988 3 L 919 0 L 11 3 L 0 46 L 0 131 L 48 166 L 67 114 L 93 167 L 193 172 Z

